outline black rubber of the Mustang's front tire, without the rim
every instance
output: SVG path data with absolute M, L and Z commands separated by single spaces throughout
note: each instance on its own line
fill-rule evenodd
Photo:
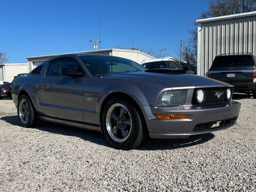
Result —
M 108 130 L 107 130 L 107 126 L 106 126 L 107 111 L 108 111 L 109 107 L 114 105 L 115 103 L 123 104 L 129 110 L 129 113 L 132 118 L 132 130 L 129 135 L 129 138 L 127 138 L 124 142 L 116 142 L 115 140 L 113 140 L 110 137 Z M 137 147 L 142 140 L 142 135 L 143 135 L 142 128 L 143 127 L 142 127 L 140 115 L 131 101 L 124 100 L 122 98 L 114 98 L 114 99 L 111 99 L 110 101 L 108 101 L 108 103 L 106 104 L 106 106 L 103 110 L 103 114 L 102 114 L 102 128 L 103 128 L 102 129 L 103 133 L 105 134 L 105 137 L 107 138 L 109 143 L 118 149 L 125 149 L 125 150 L 133 149 L 133 148 Z

